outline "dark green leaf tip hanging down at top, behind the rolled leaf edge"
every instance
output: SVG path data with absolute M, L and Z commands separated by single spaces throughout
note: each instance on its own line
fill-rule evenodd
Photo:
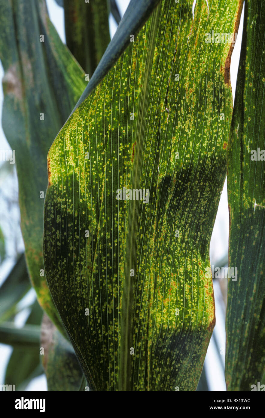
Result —
M 66 44 L 91 76 L 110 41 L 106 0 L 64 0 Z

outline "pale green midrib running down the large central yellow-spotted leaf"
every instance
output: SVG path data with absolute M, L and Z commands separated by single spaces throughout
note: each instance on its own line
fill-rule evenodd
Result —
M 146 62 L 143 74 L 143 83 L 141 89 L 140 103 L 137 109 L 136 115 L 136 144 L 134 147 L 134 166 L 132 169 L 131 189 L 141 189 L 141 172 L 144 163 L 143 138 L 145 131 L 145 115 L 146 115 L 146 102 L 149 98 L 149 74 L 151 74 L 155 40 L 157 36 L 157 28 L 159 23 L 159 10 L 160 5 L 154 10 L 153 20 L 154 24 L 151 24 L 149 32 L 149 50 L 146 53 Z M 153 23 L 153 22 L 152 22 Z M 121 355 L 119 357 L 119 391 L 131 391 L 131 363 L 132 356 L 129 352 L 132 347 L 133 336 L 133 317 L 134 317 L 134 303 L 135 303 L 135 283 L 137 272 L 137 242 L 138 242 L 138 214 L 140 204 L 144 204 L 140 200 L 131 200 L 128 205 L 128 224 L 127 224 L 127 236 L 126 236 L 126 256 L 124 257 L 124 288 L 122 292 L 122 306 L 121 306 Z M 130 276 L 130 270 L 134 269 L 134 276 Z M 136 350 L 136 347 L 134 347 Z

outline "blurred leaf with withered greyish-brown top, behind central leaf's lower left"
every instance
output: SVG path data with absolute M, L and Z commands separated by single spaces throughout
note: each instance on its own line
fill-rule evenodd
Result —
M 86 380 L 72 345 L 56 329 L 47 315 L 41 325 L 41 355 L 48 390 L 85 390 Z

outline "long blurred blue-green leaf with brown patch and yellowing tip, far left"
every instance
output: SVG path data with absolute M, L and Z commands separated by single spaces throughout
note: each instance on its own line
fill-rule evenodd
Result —
M 0 26 L 5 70 L 2 123 L 15 151 L 25 256 L 40 305 L 65 332 L 41 271 L 43 198 L 51 141 L 86 82 L 50 23 L 44 0 L 0 0 Z

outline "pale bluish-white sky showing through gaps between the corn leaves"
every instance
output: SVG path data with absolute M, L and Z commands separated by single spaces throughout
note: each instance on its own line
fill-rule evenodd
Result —
M 195 0 L 196 1 L 196 0 Z M 48 12 L 50 15 L 50 20 L 52 21 L 53 25 L 56 27 L 62 41 L 66 43 L 65 34 L 64 34 L 64 17 L 63 17 L 63 8 L 57 5 L 55 0 L 46 0 L 48 6 Z M 124 14 L 129 0 L 117 0 L 119 10 L 121 15 Z M 195 3 L 195 2 L 194 2 Z M 242 16 L 243 16 L 242 12 Z M 116 31 L 117 25 L 114 18 L 110 17 L 110 34 L 111 37 L 114 35 Z M 236 78 L 237 78 L 237 69 L 240 57 L 240 46 L 241 46 L 241 39 L 242 39 L 242 17 L 240 21 L 240 28 L 238 31 L 237 41 L 235 43 L 235 48 L 232 54 L 231 59 L 231 84 L 232 84 L 232 93 L 233 99 L 235 97 L 235 85 L 236 85 Z M 3 68 L 0 64 L 0 79 L 3 77 Z M 0 84 L 0 116 L 2 114 L 2 105 L 3 105 L 3 89 L 2 83 Z M 0 149 L 10 149 L 5 135 L 3 133 L 2 127 L 0 126 Z M 1 182 L 1 178 L 0 178 Z M 14 174 L 13 177 L 7 181 L 5 179 L 5 183 L 0 183 L 0 188 L 3 191 L 10 191 L 13 188 L 14 194 L 17 193 L 18 190 L 18 182 L 16 175 Z M 2 203 L 2 202 L 0 202 Z M 4 205 L 4 203 L 3 203 Z M 1 222 L 3 221 L 2 215 L 4 212 L 12 214 L 18 222 L 19 213 L 14 209 L 14 212 L 9 212 L 6 210 L 5 207 L 0 206 L 0 219 Z M 2 223 L 1 223 L 2 225 Z M 3 227 L 3 230 L 5 228 Z M 211 264 L 217 263 L 220 259 L 225 257 L 228 252 L 228 233 L 229 233 L 229 215 L 228 215 L 228 204 L 227 204 L 227 186 L 225 181 L 225 186 L 221 194 L 220 204 L 217 212 L 217 217 L 215 221 L 215 226 L 212 234 L 211 245 L 210 245 L 210 260 Z M 7 233 L 8 234 L 8 233 Z M 21 238 L 20 231 L 16 233 L 16 245 L 18 250 L 23 251 L 23 240 Z M 10 247 L 13 245 L 11 242 Z M 1 282 L 5 279 L 7 274 L 9 273 L 10 269 L 14 264 L 14 259 L 12 256 L 9 256 L 8 259 L 2 263 L 1 265 Z M 217 283 L 214 285 L 214 293 L 215 293 L 215 307 L 216 307 L 216 326 L 214 329 L 215 338 L 217 339 L 218 345 L 220 349 L 223 349 L 225 353 L 225 306 L 222 301 L 222 294 L 220 291 L 220 287 Z M 27 295 L 22 301 L 21 306 L 26 306 L 30 300 L 33 301 L 34 299 L 34 291 L 30 291 L 30 294 Z M 25 320 L 28 316 L 28 310 L 25 309 L 22 314 L 17 316 L 15 323 L 17 326 L 23 326 Z M 3 384 L 3 378 L 5 374 L 5 368 L 8 364 L 8 359 L 12 353 L 12 348 L 10 346 L 1 344 L 0 347 L 0 384 Z M 225 378 L 224 378 L 224 365 L 225 365 L 225 355 L 220 356 L 217 353 L 216 346 L 213 342 L 213 338 L 210 341 L 207 355 L 205 359 L 205 369 L 207 374 L 207 381 L 209 385 L 209 390 L 226 390 L 225 388 Z M 19 367 L 19 364 L 18 364 Z M 28 385 L 26 390 L 47 390 L 47 383 L 45 375 L 35 378 L 30 385 Z

